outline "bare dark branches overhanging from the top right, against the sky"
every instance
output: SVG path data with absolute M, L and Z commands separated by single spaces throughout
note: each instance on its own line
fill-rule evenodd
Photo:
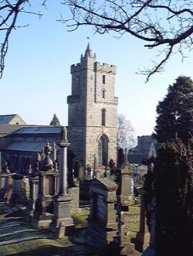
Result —
M 63 0 L 72 16 L 61 19 L 70 31 L 80 26 L 93 26 L 95 32 L 124 33 L 146 42 L 148 49 L 157 49 L 157 62 L 151 69 L 141 71 L 147 80 L 153 73 L 164 70 L 172 53 L 181 53 L 192 47 L 193 1 L 190 0 Z

